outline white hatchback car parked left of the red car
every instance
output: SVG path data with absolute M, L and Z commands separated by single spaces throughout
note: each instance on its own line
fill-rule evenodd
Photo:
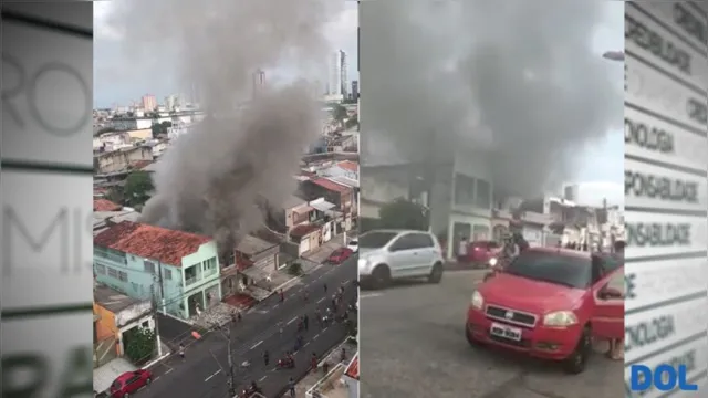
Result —
M 427 277 L 430 283 L 442 279 L 442 250 L 429 232 L 369 231 L 358 237 L 358 250 L 360 279 L 374 289 L 397 279 Z

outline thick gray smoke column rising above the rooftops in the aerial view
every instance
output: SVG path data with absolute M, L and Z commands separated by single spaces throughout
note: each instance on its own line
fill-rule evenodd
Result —
M 283 65 L 298 77 L 316 76 L 327 51 L 323 28 L 337 10 L 332 3 L 116 2 L 126 55 L 157 60 L 155 73 L 175 74 L 187 93 L 198 87 L 208 114 L 158 161 L 143 222 L 212 234 L 225 253 L 262 226 L 263 203 L 279 207 L 294 191 L 302 151 L 321 130 L 313 86 L 268 85 L 254 95 L 252 76 Z

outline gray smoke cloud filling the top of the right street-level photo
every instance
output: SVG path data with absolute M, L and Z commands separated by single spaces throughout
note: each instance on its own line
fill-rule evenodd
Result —
M 538 195 L 620 129 L 621 69 L 592 48 L 604 2 L 367 1 L 361 7 L 364 163 L 397 151 L 489 159 L 497 190 Z M 606 49 L 615 50 L 615 49 Z

